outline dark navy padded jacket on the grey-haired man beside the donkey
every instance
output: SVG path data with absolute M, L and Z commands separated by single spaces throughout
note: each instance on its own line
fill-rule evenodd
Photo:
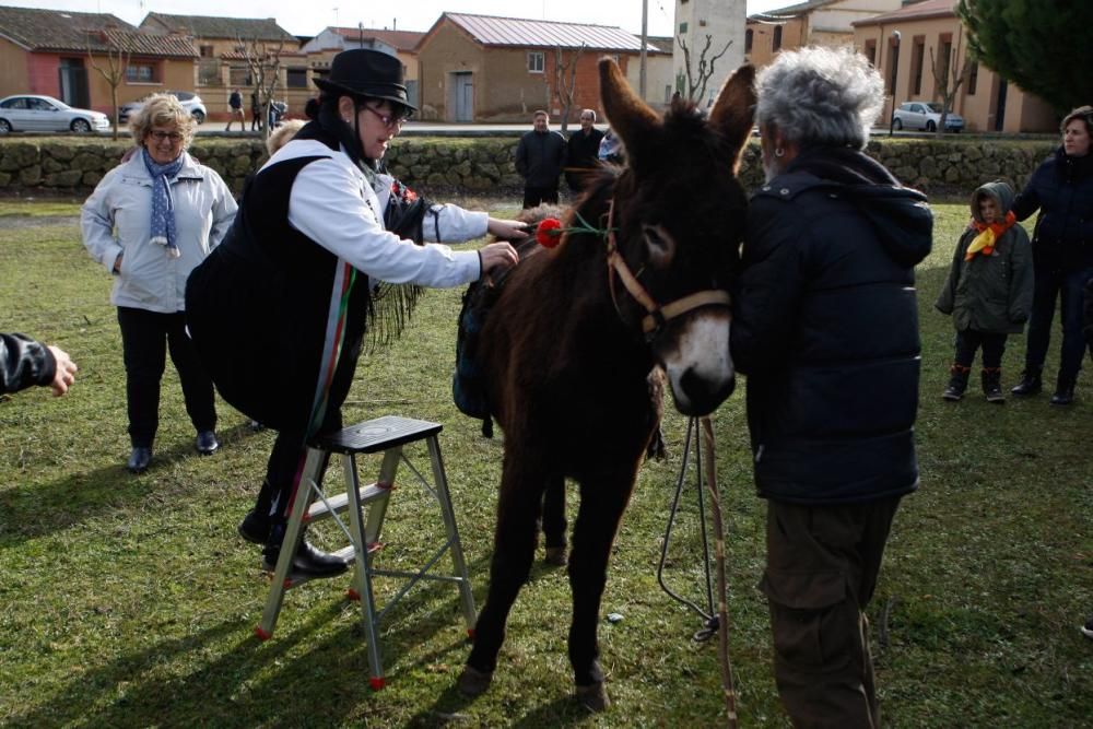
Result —
M 932 226 L 921 192 L 853 150 L 802 153 L 752 197 L 731 341 L 761 496 L 853 503 L 918 486 L 914 267 Z

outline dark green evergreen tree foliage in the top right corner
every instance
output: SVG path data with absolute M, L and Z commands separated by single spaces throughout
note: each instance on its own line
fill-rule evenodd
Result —
M 960 0 L 968 50 L 1059 113 L 1093 104 L 1091 0 Z

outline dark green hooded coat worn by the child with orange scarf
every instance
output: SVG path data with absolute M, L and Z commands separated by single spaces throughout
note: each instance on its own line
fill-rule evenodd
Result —
M 998 210 L 1009 210 L 1013 190 L 1006 183 L 987 183 L 972 195 L 972 215 L 979 214 L 980 192 L 995 198 Z M 1032 309 L 1033 268 L 1029 234 L 1014 225 L 995 242 L 991 255 L 976 254 L 964 260 L 967 247 L 979 235 L 964 231 L 956 243 L 952 267 L 933 306 L 951 314 L 957 331 L 1020 334 Z

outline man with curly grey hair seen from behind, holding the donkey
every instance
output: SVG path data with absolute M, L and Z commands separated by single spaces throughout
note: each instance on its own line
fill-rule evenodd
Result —
M 883 93 L 862 56 L 784 51 L 756 85 L 766 185 L 748 212 L 731 343 L 767 499 L 775 678 L 795 726 L 877 727 L 863 610 L 900 499 L 918 487 L 914 267 L 932 216 L 862 152 Z

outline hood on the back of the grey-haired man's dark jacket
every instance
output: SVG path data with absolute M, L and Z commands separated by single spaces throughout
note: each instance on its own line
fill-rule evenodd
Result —
M 787 173 L 810 173 L 835 185 L 872 223 L 894 261 L 914 268 L 930 254 L 933 213 L 926 196 L 903 187 L 882 164 L 849 148 L 819 148 L 800 153 Z

